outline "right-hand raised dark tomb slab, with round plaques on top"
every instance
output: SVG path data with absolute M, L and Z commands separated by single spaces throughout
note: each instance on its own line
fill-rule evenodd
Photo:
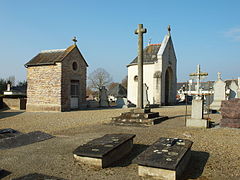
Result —
M 139 176 L 166 180 L 179 178 L 190 159 L 192 144 L 187 139 L 160 138 L 137 157 Z

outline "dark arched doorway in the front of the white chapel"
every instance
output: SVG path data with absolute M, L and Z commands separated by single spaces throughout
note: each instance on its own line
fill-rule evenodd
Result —
M 171 67 L 168 67 L 165 73 L 165 105 L 171 105 L 172 104 L 172 77 L 173 72 Z

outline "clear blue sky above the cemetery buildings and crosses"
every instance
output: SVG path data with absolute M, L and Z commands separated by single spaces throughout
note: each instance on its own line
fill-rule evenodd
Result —
M 26 79 L 24 64 L 41 50 L 63 49 L 78 39 L 89 64 L 115 82 L 137 55 L 134 30 L 143 24 L 145 46 L 161 43 L 171 25 L 178 81 L 200 64 L 206 80 L 240 76 L 238 0 L 0 0 L 0 78 Z

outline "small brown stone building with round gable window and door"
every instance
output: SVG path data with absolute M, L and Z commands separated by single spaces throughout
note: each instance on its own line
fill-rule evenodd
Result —
M 42 51 L 25 64 L 27 111 L 69 111 L 86 106 L 88 64 L 75 44 Z

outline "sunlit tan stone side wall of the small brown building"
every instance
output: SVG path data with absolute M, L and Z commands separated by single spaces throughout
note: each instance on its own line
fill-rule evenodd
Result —
M 27 111 L 61 111 L 61 63 L 27 68 Z

